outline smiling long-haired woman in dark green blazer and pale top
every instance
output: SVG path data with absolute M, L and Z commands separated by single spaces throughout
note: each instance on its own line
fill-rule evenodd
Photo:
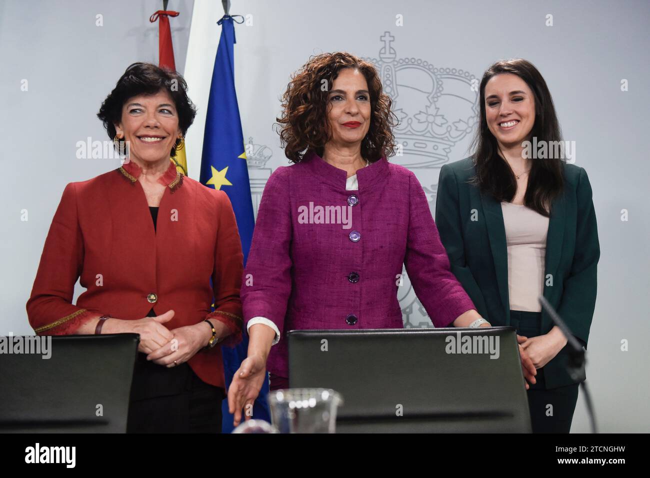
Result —
M 586 348 L 600 256 L 589 179 L 567 164 L 575 149 L 555 148 L 560 140 L 538 70 L 522 59 L 493 64 L 474 153 L 441 168 L 435 207 L 452 272 L 491 325 L 517 329 L 537 369 L 527 392 L 534 432 L 569 432 L 585 379 L 569 376 L 567 341 L 538 297 Z

